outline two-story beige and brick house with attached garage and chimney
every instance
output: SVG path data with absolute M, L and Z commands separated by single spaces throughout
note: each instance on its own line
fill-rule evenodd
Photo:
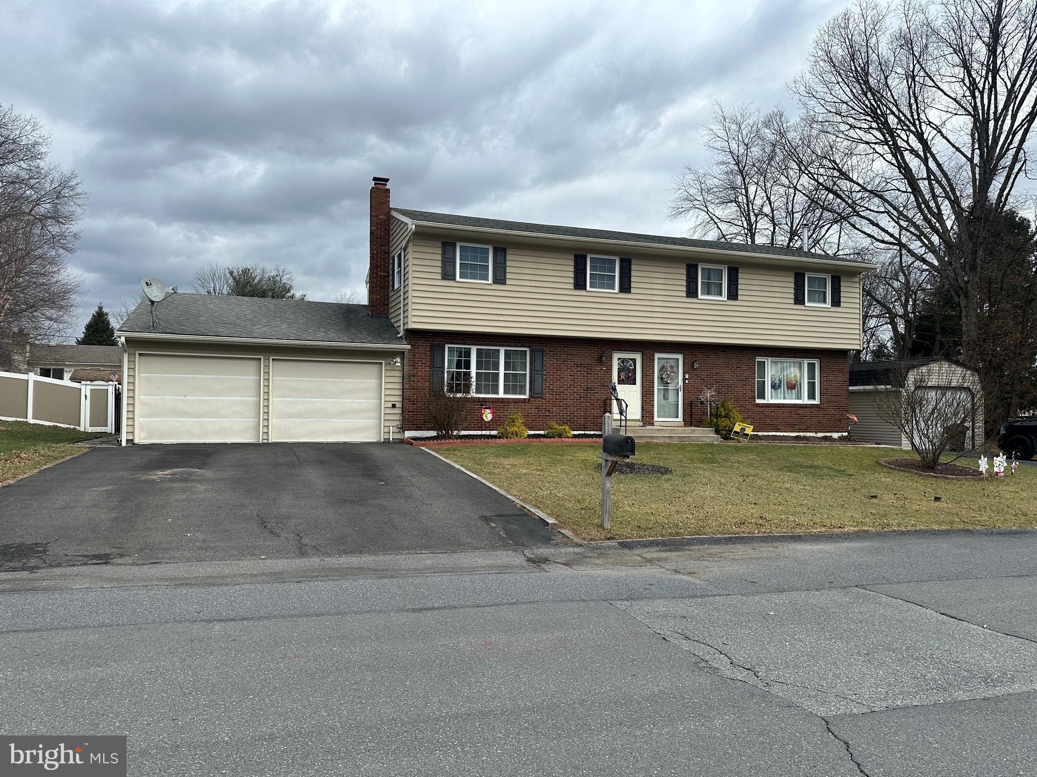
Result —
M 370 190 L 368 305 L 175 294 L 120 327 L 127 441 L 375 440 L 431 392 L 600 428 L 690 426 L 706 390 L 757 431 L 843 434 L 873 265 L 803 251 L 394 208 Z

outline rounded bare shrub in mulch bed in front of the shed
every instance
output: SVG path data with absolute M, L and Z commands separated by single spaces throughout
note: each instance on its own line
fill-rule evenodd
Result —
M 958 459 L 978 447 L 970 432 L 983 433 L 976 429 L 974 394 L 962 387 L 972 385 L 972 373 L 950 362 L 910 368 L 893 370 L 889 385 L 875 386 L 875 413 L 903 434 L 924 466 L 935 469 L 948 451 Z

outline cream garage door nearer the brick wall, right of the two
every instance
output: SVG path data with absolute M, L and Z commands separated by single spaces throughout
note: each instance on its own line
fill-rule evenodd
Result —
M 382 439 L 381 362 L 272 358 L 272 442 Z

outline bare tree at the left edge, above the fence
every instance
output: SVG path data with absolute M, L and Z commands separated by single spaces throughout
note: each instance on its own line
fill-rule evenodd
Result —
M 0 106 L 0 341 L 47 340 L 76 323 L 81 282 L 65 257 L 85 194 L 49 150 L 36 119 Z

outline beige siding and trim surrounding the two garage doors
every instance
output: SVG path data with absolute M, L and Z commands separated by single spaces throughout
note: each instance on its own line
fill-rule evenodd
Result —
M 263 356 L 262 368 L 262 413 L 260 424 L 262 428 L 262 441 L 270 441 L 270 358 L 271 356 L 285 356 L 290 358 L 330 358 L 330 359 L 356 359 L 361 362 L 381 361 L 385 363 L 385 418 L 383 426 L 384 439 L 389 439 L 390 429 L 393 439 L 398 439 L 399 432 L 396 426 L 401 421 L 403 408 L 403 368 L 394 367 L 389 364 L 393 358 L 402 362 L 403 352 L 392 349 L 346 349 L 346 348 L 300 348 L 291 346 L 268 346 L 268 345 L 239 345 L 220 343 L 192 343 L 192 342 L 148 342 L 146 340 L 135 340 L 127 338 L 127 376 L 123 385 L 123 396 L 125 398 L 127 410 L 127 442 L 134 439 L 135 407 L 134 398 L 136 393 L 136 371 L 137 353 L 139 351 L 159 353 L 195 353 L 195 354 L 227 354 L 237 356 Z M 395 407 L 392 405 L 395 404 Z

